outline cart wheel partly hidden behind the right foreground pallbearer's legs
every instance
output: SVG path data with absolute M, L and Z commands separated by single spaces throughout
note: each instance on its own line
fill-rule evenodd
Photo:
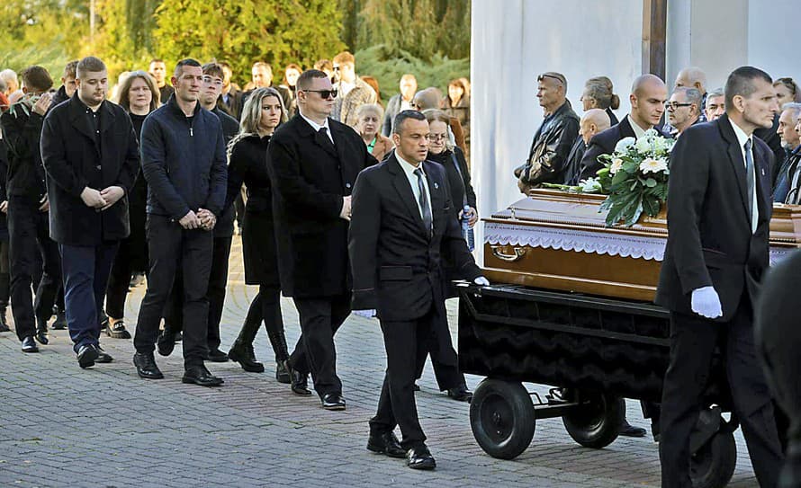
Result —
M 693 488 L 720 488 L 729 483 L 737 463 L 734 434 L 719 430 L 690 457 L 689 477 Z

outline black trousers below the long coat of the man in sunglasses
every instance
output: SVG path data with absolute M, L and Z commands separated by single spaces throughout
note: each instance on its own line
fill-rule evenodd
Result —
M 350 293 L 337 297 L 293 298 L 301 319 L 301 337 L 289 359 L 293 369 L 311 373 L 314 390 L 320 397 L 341 394 L 337 376 L 337 350 L 334 334 L 350 315 Z

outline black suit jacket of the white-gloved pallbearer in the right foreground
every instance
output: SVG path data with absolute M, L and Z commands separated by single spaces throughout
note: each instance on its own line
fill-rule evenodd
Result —
M 752 303 L 769 266 L 773 153 L 752 138 L 759 220 L 752 234 L 745 163 L 725 115 L 685 130 L 671 153 L 668 243 L 656 303 L 691 314 L 690 296 L 714 286 L 727 322 L 747 291 Z

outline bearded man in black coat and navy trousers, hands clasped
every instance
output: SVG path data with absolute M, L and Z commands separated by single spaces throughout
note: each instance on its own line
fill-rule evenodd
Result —
M 50 237 L 58 243 L 69 336 L 78 365 L 111 362 L 98 343 L 103 297 L 120 241 L 130 234 L 128 192 L 139 144 L 128 114 L 105 100 L 106 67 L 80 60 L 76 93 L 53 108 L 41 130 Z

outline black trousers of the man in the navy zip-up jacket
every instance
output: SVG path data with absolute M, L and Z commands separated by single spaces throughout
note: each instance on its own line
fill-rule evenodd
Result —
M 208 354 L 206 291 L 211 273 L 213 236 L 202 229 L 186 230 L 168 217 L 148 215 L 146 224 L 150 272 L 148 291 L 139 307 L 133 345 L 137 352 L 156 349 L 158 325 L 164 316 L 175 274 L 183 271 L 184 366 L 202 364 Z

